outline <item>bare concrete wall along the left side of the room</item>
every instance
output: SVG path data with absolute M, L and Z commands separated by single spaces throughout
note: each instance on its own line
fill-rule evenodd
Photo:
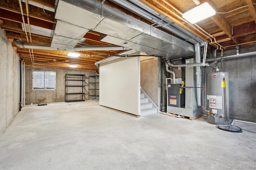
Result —
M 0 29 L 0 136 L 19 111 L 19 58 L 8 38 Z

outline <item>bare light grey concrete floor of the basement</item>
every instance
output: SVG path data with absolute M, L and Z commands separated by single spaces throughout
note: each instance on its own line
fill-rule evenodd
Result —
M 256 134 L 154 114 L 135 118 L 96 101 L 22 108 L 0 138 L 0 169 L 256 167 Z

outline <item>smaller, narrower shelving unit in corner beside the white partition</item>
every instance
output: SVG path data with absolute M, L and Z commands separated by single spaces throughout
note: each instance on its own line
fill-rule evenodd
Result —
M 89 99 L 90 97 L 94 97 L 93 99 L 98 99 L 99 95 L 99 75 L 91 75 L 89 76 Z

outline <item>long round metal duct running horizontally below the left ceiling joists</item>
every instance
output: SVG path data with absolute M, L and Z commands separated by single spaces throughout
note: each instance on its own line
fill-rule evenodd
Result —
M 94 46 L 80 46 L 74 47 L 72 49 L 63 49 L 63 48 L 56 48 L 50 47 L 47 45 L 36 45 L 32 43 L 25 43 L 21 42 L 21 40 L 14 40 L 15 44 L 20 48 L 33 48 L 33 49 L 48 49 L 48 50 L 59 50 L 59 51 L 111 51 L 111 50 L 128 50 L 127 47 L 120 47 L 120 46 L 110 46 L 110 45 L 94 45 Z

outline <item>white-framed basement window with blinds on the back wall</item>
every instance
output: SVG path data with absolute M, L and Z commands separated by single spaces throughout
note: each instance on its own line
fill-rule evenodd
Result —
M 33 90 L 55 90 L 56 71 L 35 71 L 33 70 Z

